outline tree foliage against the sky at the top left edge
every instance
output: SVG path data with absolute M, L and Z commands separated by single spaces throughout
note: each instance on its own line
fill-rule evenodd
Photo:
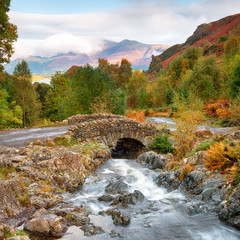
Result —
M 0 1 L 0 71 L 3 71 L 3 63 L 10 61 L 13 54 L 13 42 L 17 40 L 17 27 L 9 23 L 7 12 L 10 0 Z

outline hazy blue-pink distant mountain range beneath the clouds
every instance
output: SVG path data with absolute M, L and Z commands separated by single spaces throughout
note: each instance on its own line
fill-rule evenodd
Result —
M 143 44 L 137 41 L 123 40 L 119 43 L 105 41 L 101 51 L 92 55 L 84 53 L 59 53 L 52 57 L 32 56 L 26 58 L 33 75 L 52 74 L 56 71 L 66 71 L 71 66 L 83 66 L 87 63 L 97 65 L 98 58 L 106 58 L 111 63 L 120 62 L 122 58 L 127 58 L 134 69 L 146 70 L 151 62 L 152 55 L 160 54 L 169 46 L 162 44 Z M 5 71 L 12 73 L 15 66 L 22 59 L 16 59 L 6 64 Z

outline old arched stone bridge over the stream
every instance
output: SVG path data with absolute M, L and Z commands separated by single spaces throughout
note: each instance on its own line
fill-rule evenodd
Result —
M 153 123 L 113 114 L 76 115 L 68 118 L 69 131 L 80 142 L 97 140 L 110 148 L 148 148 L 159 133 Z M 119 145 L 119 146 L 117 146 Z

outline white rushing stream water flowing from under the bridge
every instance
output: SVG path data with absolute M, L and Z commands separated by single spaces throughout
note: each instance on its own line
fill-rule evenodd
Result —
M 95 177 L 87 179 L 83 188 L 75 194 L 67 194 L 66 201 L 82 205 L 90 212 L 91 221 L 102 227 L 105 233 L 86 237 L 77 227 L 69 228 L 64 239 L 111 239 L 114 229 L 130 240 L 237 240 L 240 233 L 224 224 L 216 216 L 188 214 L 186 200 L 179 191 L 168 193 L 154 183 L 157 173 L 142 167 L 134 160 L 110 159 L 96 171 Z M 100 216 L 99 211 L 110 208 L 109 203 L 99 202 L 105 187 L 117 177 L 123 177 L 129 192 L 141 191 L 145 200 L 137 205 L 121 209 L 131 216 L 128 226 L 116 226 L 110 216 Z

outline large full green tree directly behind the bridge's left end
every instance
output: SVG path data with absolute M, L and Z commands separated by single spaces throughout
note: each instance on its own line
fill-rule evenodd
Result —
M 71 81 L 71 92 L 64 103 L 65 115 L 92 113 L 96 106 L 112 107 L 115 82 L 100 68 L 81 67 Z

